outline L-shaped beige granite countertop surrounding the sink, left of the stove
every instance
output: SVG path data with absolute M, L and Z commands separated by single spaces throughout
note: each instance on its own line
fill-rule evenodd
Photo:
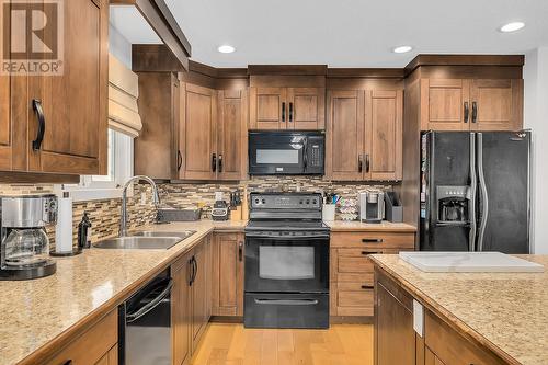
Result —
M 164 231 L 196 230 L 169 250 L 90 249 L 54 259 L 57 273 L 34 281 L 0 281 L 0 365 L 18 364 L 94 311 L 116 306 L 142 282 L 168 266 L 214 229 L 242 231 L 246 221 L 193 221 L 148 226 Z

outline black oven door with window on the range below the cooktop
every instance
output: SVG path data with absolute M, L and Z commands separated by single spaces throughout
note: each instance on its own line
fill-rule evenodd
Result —
M 246 236 L 247 293 L 328 293 L 329 233 Z

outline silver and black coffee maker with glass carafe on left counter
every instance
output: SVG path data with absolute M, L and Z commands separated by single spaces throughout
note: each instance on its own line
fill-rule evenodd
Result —
M 55 195 L 0 197 L 0 280 L 48 276 L 57 266 L 49 259 L 46 227 L 57 219 Z

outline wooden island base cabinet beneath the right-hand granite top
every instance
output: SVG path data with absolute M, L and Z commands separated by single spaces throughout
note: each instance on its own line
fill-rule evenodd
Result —
M 507 364 L 422 303 L 421 337 L 413 328 L 413 300 L 421 303 L 375 267 L 375 365 Z

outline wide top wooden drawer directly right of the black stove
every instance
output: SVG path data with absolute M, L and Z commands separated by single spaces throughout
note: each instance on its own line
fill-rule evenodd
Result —
M 331 247 L 414 248 L 414 233 L 398 232 L 333 232 Z

